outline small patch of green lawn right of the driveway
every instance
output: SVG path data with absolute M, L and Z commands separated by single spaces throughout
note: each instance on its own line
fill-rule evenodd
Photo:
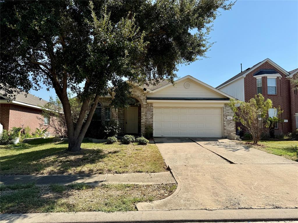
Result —
M 252 140 L 243 140 L 243 142 L 252 142 Z M 287 159 L 298 161 L 297 149 L 298 141 L 295 140 L 261 140 L 260 145 L 253 146 L 255 149 L 282 156 Z

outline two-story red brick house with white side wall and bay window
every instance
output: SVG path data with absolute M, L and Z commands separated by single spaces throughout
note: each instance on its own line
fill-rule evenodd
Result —
M 233 76 L 216 89 L 246 102 L 257 93 L 261 93 L 265 99 L 271 99 L 275 108 L 280 106 L 283 109 L 283 122 L 276 125 L 275 132 L 286 134 L 298 128 L 298 95 L 290 82 L 297 76 L 298 68 L 288 72 L 267 58 Z M 272 116 L 275 112 L 271 109 L 268 115 Z M 239 125 L 236 123 L 236 127 Z

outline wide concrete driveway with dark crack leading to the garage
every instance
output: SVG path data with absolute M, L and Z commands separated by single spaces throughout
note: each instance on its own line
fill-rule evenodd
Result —
M 155 142 L 178 187 L 163 200 L 138 203 L 139 210 L 298 207 L 297 162 L 227 139 Z

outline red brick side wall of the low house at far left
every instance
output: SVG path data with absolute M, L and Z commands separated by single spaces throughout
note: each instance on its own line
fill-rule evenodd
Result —
M 12 127 L 24 127 L 29 126 L 31 132 L 35 132 L 36 128 L 40 128 L 42 122 L 37 117 L 41 116 L 41 110 L 14 105 L 14 104 L 0 104 L 0 123 L 3 125 L 3 129 L 11 130 Z M 41 128 L 47 126 L 42 125 Z M 49 129 L 49 132 L 51 130 Z

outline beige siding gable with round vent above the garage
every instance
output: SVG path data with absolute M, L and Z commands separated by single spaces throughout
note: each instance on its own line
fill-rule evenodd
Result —
M 184 84 L 190 83 L 189 88 L 185 88 Z M 185 84 L 186 87 L 187 84 Z M 190 78 L 186 78 L 179 81 L 175 86 L 170 85 L 157 92 L 148 93 L 148 97 L 162 97 L 162 98 L 226 98 L 212 89 L 203 86 L 202 84 L 193 81 Z

